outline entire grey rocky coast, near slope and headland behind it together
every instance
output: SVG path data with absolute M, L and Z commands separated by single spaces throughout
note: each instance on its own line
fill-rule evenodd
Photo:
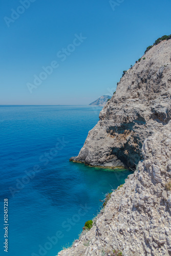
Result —
M 137 167 L 113 191 L 90 231 L 59 256 L 171 255 L 170 56 L 171 40 L 164 40 L 124 74 L 71 159 Z

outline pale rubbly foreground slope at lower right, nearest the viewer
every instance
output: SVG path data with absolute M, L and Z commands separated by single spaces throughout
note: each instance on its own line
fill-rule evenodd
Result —
M 142 157 L 91 230 L 58 256 L 171 255 L 171 121 L 145 139 Z

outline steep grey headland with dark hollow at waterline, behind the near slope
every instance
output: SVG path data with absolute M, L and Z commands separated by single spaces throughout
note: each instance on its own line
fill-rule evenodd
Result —
M 143 59 L 145 58 L 145 59 Z M 77 157 L 90 165 L 134 167 L 145 138 L 160 131 L 171 116 L 171 40 L 146 52 L 121 78 Z

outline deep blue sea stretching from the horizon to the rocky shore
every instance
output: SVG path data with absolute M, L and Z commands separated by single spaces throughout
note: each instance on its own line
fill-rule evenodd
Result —
M 105 194 L 131 173 L 69 161 L 100 111 L 95 106 L 0 106 L 0 255 L 57 255 L 97 215 Z

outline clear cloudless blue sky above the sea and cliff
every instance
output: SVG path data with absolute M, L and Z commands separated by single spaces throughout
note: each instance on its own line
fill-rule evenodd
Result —
M 170 0 L 0 0 L 0 104 L 87 105 L 171 34 Z

